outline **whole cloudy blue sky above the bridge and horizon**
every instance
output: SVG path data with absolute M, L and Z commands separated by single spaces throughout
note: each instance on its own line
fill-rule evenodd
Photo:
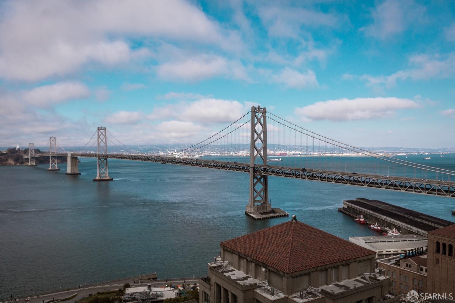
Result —
M 3 1 L 0 146 L 192 143 L 253 104 L 358 146 L 455 147 L 453 1 Z

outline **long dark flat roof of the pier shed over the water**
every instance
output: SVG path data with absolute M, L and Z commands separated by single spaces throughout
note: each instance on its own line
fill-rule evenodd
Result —
M 444 219 L 436 218 L 427 214 L 422 214 L 411 209 L 405 209 L 404 207 L 396 206 L 379 200 L 370 200 L 365 198 L 357 198 L 355 200 L 345 200 L 351 204 L 354 204 L 370 211 L 389 217 L 390 219 L 397 220 L 404 224 L 420 228 L 426 232 L 446 227 L 454 222 L 450 222 Z M 429 222 L 438 226 L 425 223 Z

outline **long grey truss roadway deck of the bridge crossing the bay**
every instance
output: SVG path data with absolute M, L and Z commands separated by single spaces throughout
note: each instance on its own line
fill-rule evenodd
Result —
M 35 154 L 35 157 L 67 157 L 68 154 Z M 97 158 L 98 154 L 71 153 L 73 157 Z M 28 159 L 28 156 L 24 157 Z M 151 156 L 140 154 L 100 154 L 100 158 L 125 159 L 136 161 L 149 161 L 162 164 L 178 164 L 187 166 L 205 167 L 210 169 L 223 169 L 242 173 L 249 173 L 249 164 L 238 162 L 226 162 L 206 159 L 177 158 L 164 156 Z M 343 173 L 339 171 L 322 169 L 304 169 L 282 167 L 274 165 L 258 165 L 254 167 L 257 175 L 285 177 L 293 179 L 312 180 L 319 182 L 347 184 L 377 189 L 389 189 L 394 191 L 409 192 L 415 194 L 429 194 L 448 198 L 455 198 L 455 182 L 430 179 L 419 179 L 398 176 L 381 176 L 375 174 Z

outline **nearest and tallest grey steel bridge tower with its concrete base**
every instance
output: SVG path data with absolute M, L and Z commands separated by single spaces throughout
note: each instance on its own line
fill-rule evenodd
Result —
M 251 107 L 250 141 L 250 191 L 246 214 L 254 219 L 288 216 L 278 208 L 272 208 L 268 199 L 268 176 L 256 174 L 255 166 L 267 165 L 267 109 Z

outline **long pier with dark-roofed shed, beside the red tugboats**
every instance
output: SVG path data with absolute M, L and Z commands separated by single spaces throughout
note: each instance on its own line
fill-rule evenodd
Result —
M 343 207 L 338 210 L 354 218 L 363 214 L 367 222 L 377 222 L 386 228 L 397 228 L 401 234 L 419 234 L 425 237 L 429 231 L 455 224 L 411 209 L 365 198 L 345 200 Z

